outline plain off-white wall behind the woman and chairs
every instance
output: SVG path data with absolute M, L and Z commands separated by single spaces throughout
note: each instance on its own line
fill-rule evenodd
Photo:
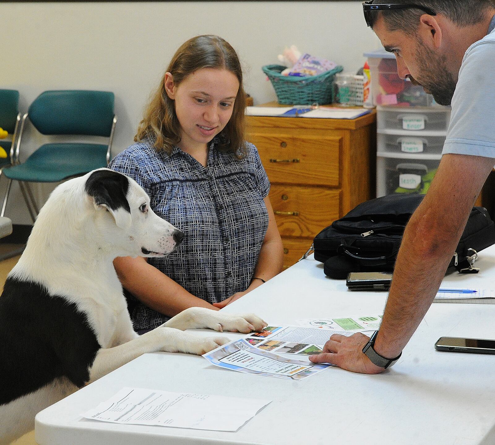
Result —
M 0 88 L 20 91 L 21 111 L 49 89 L 113 91 L 113 154 L 132 143 L 151 89 L 190 37 L 218 34 L 237 50 L 255 104 L 276 99 L 261 66 L 277 63 L 285 46 L 296 44 L 346 71 L 356 71 L 363 52 L 380 47 L 360 1 L 1 3 L 0 16 Z M 24 141 L 29 154 L 43 139 L 28 131 Z M 36 189 L 41 203 L 51 189 Z M 30 223 L 21 200 L 15 186 L 6 216 Z

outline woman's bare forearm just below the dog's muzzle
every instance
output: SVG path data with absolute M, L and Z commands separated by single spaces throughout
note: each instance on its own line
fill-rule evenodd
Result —
M 218 310 L 207 301 L 189 293 L 173 279 L 148 264 L 143 257 L 118 257 L 113 260 L 113 266 L 122 285 L 142 303 L 160 314 L 173 317 L 190 307 Z

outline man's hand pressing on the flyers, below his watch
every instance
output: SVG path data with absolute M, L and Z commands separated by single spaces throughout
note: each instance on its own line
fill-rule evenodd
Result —
M 321 354 L 309 356 L 309 361 L 313 363 L 330 363 L 337 365 L 347 371 L 360 374 L 379 374 L 385 368 L 376 366 L 363 353 L 364 345 L 369 341 L 369 337 L 357 333 L 350 337 L 333 334 L 325 343 Z

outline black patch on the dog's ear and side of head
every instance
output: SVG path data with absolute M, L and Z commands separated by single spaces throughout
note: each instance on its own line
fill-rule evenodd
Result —
M 97 170 L 86 181 L 86 193 L 95 198 L 96 204 L 106 205 L 112 210 L 123 208 L 131 213 L 127 202 L 129 180 L 123 174 L 112 170 Z

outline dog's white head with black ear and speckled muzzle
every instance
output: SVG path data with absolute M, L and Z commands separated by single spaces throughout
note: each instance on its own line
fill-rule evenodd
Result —
M 88 173 L 84 188 L 99 230 L 122 256 L 164 256 L 184 239 L 151 210 L 149 196 L 132 178 L 101 168 Z

